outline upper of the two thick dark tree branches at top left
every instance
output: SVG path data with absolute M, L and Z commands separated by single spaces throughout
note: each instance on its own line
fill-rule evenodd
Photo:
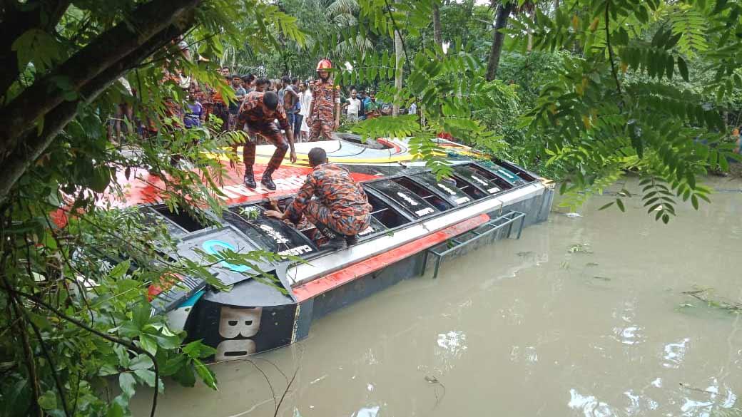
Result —
M 65 105 L 65 95 L 80 92 L 93 79 L 116 62 L 137 51 L 142 43 L 182 18 L 200 0 L 152 0 L 137 7 L 125 19 L 102 33 L 70 59 L 37 80 L 4 108 L 0 116 L 0 158 L 15 148 L 19 138 L 33 131 L 39 119 L 47 119 L 57 106 Z M 64 80 L 70 88 L 59 87 Z M 0 160 L 1 162 L 1 160 Z

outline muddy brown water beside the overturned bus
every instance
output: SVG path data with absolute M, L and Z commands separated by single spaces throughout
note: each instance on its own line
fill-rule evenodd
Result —
M 215 365 L 218 392 L 168 385 L 158 415 L 273 416 L 271 387 L 280 398 L 297 368 L 280 416 L 742 415 L 730 413 L 742 408 L 742 315 L 682 294 L 742 302 L 742 183 L 712 185 L 723 192 L 711 205 L 670 226 L 638 199 L 626 214 L 597 211 L 611 197 L 583 217 L 554 212 L 437 280 L 315 322 L 295 346 Z

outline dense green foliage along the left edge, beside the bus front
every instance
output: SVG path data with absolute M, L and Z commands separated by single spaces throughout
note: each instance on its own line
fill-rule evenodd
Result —
M 0 13 L 27 13 L 22 16 L 29 22 L 53 19 L 54 13 L 42 6 L 20 6 L 41 2 L 12 3 Z M 19 70 L 2 91 L 4 115 L 18 111 L 19 100 L 39 85 L 45 86 L 45 95 L 25 108 L 28 114 L 42 114 L 22 119 L 27 136 L 0 140 L 3 169 L 17 162 L 10 156 L 17 143 L 24 143 L 20 155 L 26 159 L 15 183 L 3 177 L 4 185 L 12 185 L 0 195 L 0 414 L 128 416 L 136 390 L 157 387 L 157 398 L 164 377 L 187 386 L 200 379 L 216 387 L 213 372 L 202 362 L 213 349 L 200 341 L 184 344 L 185 333 L 169 329 L 162 315 L 153 313 L 148 287 L 179 285 L 175 277 L 181 275 L 229 290 L 210 268 L 225 262 L 255 268 L 278 255 L 203 253 L 200 260 L 165 255 L 175 253 L 165 225 L 137 209 L 111 210 L 122 206 L 128 191 L 122 183 L 138 178 L 168 209 L 185 211 L 201 223 L 220 215 L 218 190 L 226 171 L 212 156 L 242 141 L 243 134 L 220 133 L 221 121 L 214 116 L 201 128 L 183 129 L 174 112 L 186 100 L 180 74 L 234 99 L 211 64 L 225 47 L 264 45 L 276 34 L 301 43 L 303 33 L 295 18 L 258 0 L 46 3 L 65 6 L 56 22 L 5 40 Z M 148 27 L 173 17 L 137 12 L 140 7 L 180 6 L 183 11 L 172 12 L 180 13 L 177 24 L 149 34 Z M 113 56 L 124 47 L 141 52 L 124 54 L 114 69 L 102 68 L 99 76 L 110 77 L 108 82 L 86 87 L 96 79 L 82 75 L 102 59 L 82 56 L 130 22 L 140 23 L 137 36 L 142 38 L 119 39 L 106 45 L 106 52 Z M 177 46 L 179 33 L 185 33 L 194 57 L 206 59 L 188 59 Z M 85 63 L 84 70 L 65 66 L 75 59 Z M 119 82 L 111 84 L 124 72 L 136 95 Z M 69 116 L 55 116 L 67 108 L 65 103 L 73 104 L 65 110 Z M 108 118 L 116 117 L 121 103 L 133 108 L 134 119 L 125 120 L 125 134 L 111 142 Z M 38 142 L 35 156 L 34 140 L 65 117 L 47 142 Z M 255 270 L 256 279 L 275 279 Z

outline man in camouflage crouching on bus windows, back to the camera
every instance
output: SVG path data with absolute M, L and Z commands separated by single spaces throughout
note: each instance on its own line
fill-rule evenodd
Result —
M 371 205 L 366 192 L 358 185 L 350 173 L 327 161 L 323 148 L 309 151 L 309 165 L 312 173 L 306 176 L 293 203 L 286 211 L 269 210 L 266 215 L 292 223 L 299 223 L 302 214 L 317 226 L 329 242 L 326 249 L 343 249 L 358 241 L 358 233 L 363 232 L 371 222 Z M 312 197 L 317 197 L 312 200 Z

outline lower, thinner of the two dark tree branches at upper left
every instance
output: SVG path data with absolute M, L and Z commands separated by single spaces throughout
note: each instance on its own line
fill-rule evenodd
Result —
M 127 68 L 131 68 L 137 62 L 151 56 L 154 51 L 165 46 L 167 42 L 174 39 L 183 32 L 183 27 L 170 26 L 163 30 L 157 36 L 149 39 L 138 50 L 134 50 L 128 56 L 123 57 L 119 62 L 109 65 L 105 72 L 92 79 L 80 91 L 80 96 L 84 97 L 78 101 L 63 102 L 51 111 L 45 119 L 47 122 L 41 134 L 36 132 L 27 133 L 19 141 L 19 144 L 5 158 L 0 158 L 0 204 L 7 199 L 10 189 L 24 174 L 26 169 L 33 163 L 36 158 L 50 145 L 53 139 L 62 131 L 77 114 L 78 105 L 81 102 L 91 102 L 95 99 L 111 82 L 114 82 Z

